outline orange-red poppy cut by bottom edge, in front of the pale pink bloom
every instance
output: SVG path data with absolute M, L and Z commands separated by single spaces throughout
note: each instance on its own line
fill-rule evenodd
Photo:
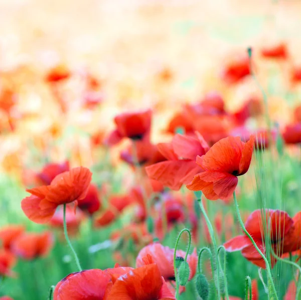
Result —
M 106 300 L 175 300 L 157 264 L 147 264 L 120 276 L 112 286 Z

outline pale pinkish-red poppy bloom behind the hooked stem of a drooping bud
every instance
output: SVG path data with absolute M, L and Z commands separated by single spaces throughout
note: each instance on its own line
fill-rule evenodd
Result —
M 161 275 L 166 281 L 175 280 L 175 270 L 174 270 L 174 249 L 165 247 L 159 243 L 154 243 L 145 246 L 140 250 L 136 257 L 136 266 L 140 267 L 145 264 L 143 257 L 146 255 L 152 256 L 154 262 L 158 265 Z M 176 256 L 185 258 L 186 252 L 182 250 L 177 250 Z M 187 256 L 187 262 L 190 268 L 189 280 L 191 280 L 196 274 L 198 255 L 196 249 L 194 249 L 192 254 Z

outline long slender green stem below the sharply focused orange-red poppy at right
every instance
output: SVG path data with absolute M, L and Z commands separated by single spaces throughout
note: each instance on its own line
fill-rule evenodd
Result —
M 256 251 L 260 254 L 260 256 L 262 257 L 262 259 L 265 262 L 265 267 L 266 267 L 266 273 L 267 273 L 267 277 L 268 277 L 268 285 L 270 285 L 271 289 L 268 289 L 269 292 L 269 298 L 273 299 L 273 297 L 275 298 L 275 300 L 278 300 L 278 296 L 277 296 L 277 292 L 276 292 L 276 288 L 273 282 L 273 277 L 272 277 L 272 273 L 271 273 L 271 269 L 269 266 L 269 263 L 266 259 L 266 257 L 264 256 L 264 254 L 261 252 L 261 250 L 258 248 L 258 246 L 256 245 L 255 241 L 253 240 L 253 238 L 251 237 L 251 235 L 248 233 L 248 231 L 246 230 L 243 221 L 241 219 L 240 216 L 240 212 L 239 212 L 239 208 L 238 208 L 238 203 L 237 203 L 237 199 L 236 199 L 236 194 L 235 191 L 233 192 L 233 199 L 234 199 L 234 205 L 236 208 L 236 213 L 237 213 L 237 217 L 238 217 L 238 221 L 240 223 L 240 226 L 243 230 L 243 232 L 247 235 L 247 237 L 249 238 L 249 240 L 252 242 L 253 246 L 255 247 Z

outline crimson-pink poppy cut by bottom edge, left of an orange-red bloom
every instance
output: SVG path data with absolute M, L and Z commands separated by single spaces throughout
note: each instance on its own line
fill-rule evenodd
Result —
M 53 300 L 104 300 L 110 274 L 99 269 L 69 274 L 55 287 Z

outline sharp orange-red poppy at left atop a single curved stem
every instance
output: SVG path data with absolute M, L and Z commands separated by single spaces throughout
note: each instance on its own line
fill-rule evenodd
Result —
M 32 195 L 22 200 L 26 216 L 35 223 L 47 223 L 61 204 L 86 197 L 92 173 L 84 167 L 57 175 L 48 186 L 27 190 Z

